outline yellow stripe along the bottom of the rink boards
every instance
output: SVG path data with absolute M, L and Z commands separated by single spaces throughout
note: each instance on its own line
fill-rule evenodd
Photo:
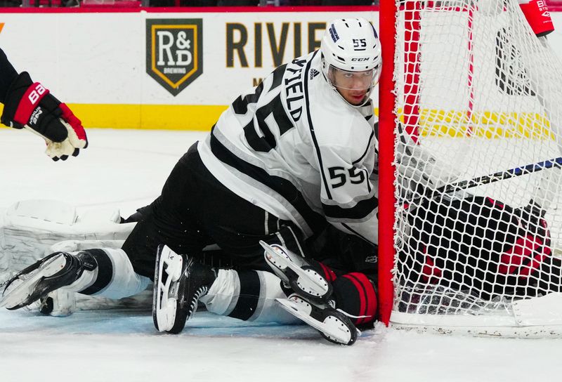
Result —
M 108 129 L 210 131 L 227 105 L 104 105 L 68 104 L 84 127 Z M 0 114 L 3 110 L 0 104 Z M 378 115 L 378 109 L 374 113 Z M 403 121 L 402 110 L 398 111 Z M 493 138 L 554 139 L 550 122 L 534 112 L 466 112 L 430 110 L 420 112 L 421 136 L 478 136 Z M 4 126 L 1 125 L 0 126 Z

